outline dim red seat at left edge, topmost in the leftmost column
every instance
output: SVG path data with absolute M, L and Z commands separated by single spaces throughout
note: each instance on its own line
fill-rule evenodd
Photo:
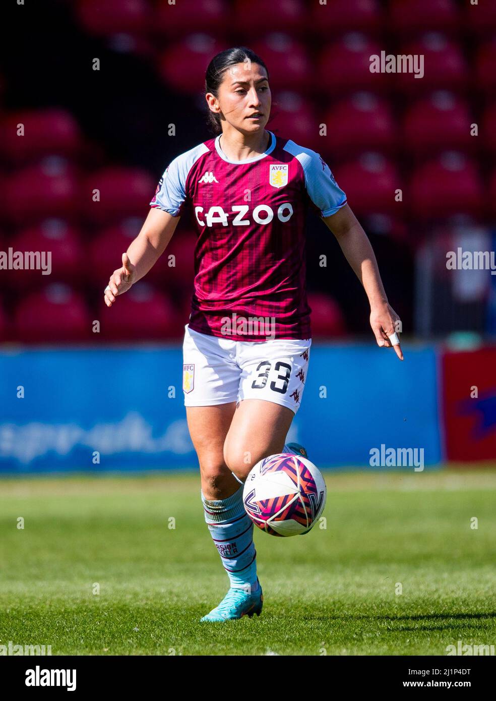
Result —
M 22 136 L 18 135 L 20 129 Z M 7 114 L 1 121 L 0 133 L 0 149 L 15 163 L 34 161 L 46 155 L 74 156 L 82 147 L 78 123 L 63 109 Z

